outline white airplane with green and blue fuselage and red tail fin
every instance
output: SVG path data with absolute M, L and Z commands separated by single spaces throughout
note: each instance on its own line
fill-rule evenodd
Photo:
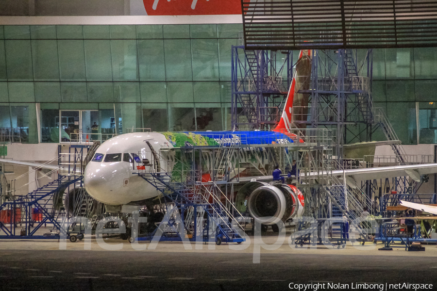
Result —
M 308 58 L 310 52 L 301 51 L 299 62 Z M 114 209 L 123 206 L 145 205 L 160 195 L 150 183 L 139 177 L 140 168 L 148 168 L 151 172 L 165 172 L 171 175 L 172 165 L 168 157 L 160 155 L 163 149 L 170 151 L 175 147 L 184 146 L 217 146 L 241 144 L 246 146 L 242 152 L 269 149 L 272 144 L 302 143 L 301 138 L 290 133 L 293 127 L 292 107 L 296 88 L 299 66 L 290 85 L 281 120 L 275 129 L 270 131 L 195 131 L 195 132 L 134 132 L 115 136 L 103 142 L 96 150 L 93 159 L 86 165 L 84 171 L 84 187 L 95 200 L 113 206 Z M 143 163 L 148 161 L 148 163 Z M 21 163 L 23 165 L 52 168 L 53 165 L 38 165 L 28 162 L 17 162 L 0 159 L 0 162 Z M 151 163 L 150 163 L 151 162 Z M 262 161 L 260 161 L 262 162 Z M 267 159 L 267 162 L 274 160 Z M 391 178 L 410 176 L 420 179 L 420 175 L 437 172 L 437 164 L 402 165 L 392 167 L 347 169 L 332 171 L 332 175 L 346 179 L 353 187 L 358 181 L 376 178 Z M 239 173 L 230 177 L 231 181 Z M 309 173 L 308 175 L 313 175 Z M 306 174 L 302 174 L 306 175 Z M 317 173 L 320 175 L 320 173 Z M 328 173 L 321 173 L 328 175 Z M 269 184 L 272 176 L 263 173 L 239 177 L 241 188 L 237 200 L 241 206 L 247 200 L 248 210 L 252 217 L 265 225 L 275 225 L 280 220 L 286 221 L 303 214 L 304 197 L 302 192 L 293 185 L 275 183 Z M 68 195 L 68 194 L 67 194 Z M 156 203 L 156 202 L 155 202 Z M 270 218 L 265 218 L 269 216 Z

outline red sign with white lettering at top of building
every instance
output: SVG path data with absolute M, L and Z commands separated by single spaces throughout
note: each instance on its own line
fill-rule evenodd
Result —
M 241 14 L 241 0 L 143 0 L 147 15 Z

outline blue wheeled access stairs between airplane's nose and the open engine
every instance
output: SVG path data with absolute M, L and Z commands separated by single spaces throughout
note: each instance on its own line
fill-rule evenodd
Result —
M 171 204 L 173 209 L 168 209 L 167 218 L 159 224 L 150 235 L 139 237 L 138 241 L 215 241 L 218 245 L 222 242 L 244 242 L 245 239 L 237 231 L 238 224 L 234 226 L 232 213 L 225 208 L 219 198 L 213 194 L 207 185 L 201 182 L 188 180 L 186 183 L 175 181 L 168 173 L 137 173 L 154 188 L 160 191 Z M 166 207 L 167 204 L 166 204 Z M 181 213 L 182 221 L 174 217 L 174 212 Z M 177 216 L 177 213 L 176 213 Z M 181 227 L 181 222 L 184 226 Z

